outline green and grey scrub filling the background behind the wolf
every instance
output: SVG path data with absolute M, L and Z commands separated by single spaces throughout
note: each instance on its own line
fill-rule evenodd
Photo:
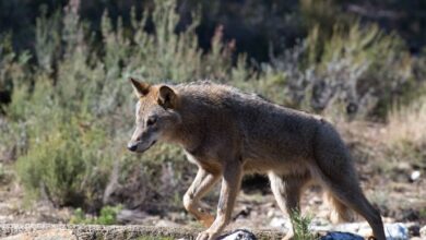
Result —
M 116 208 L 106 204 L 181 209 L 186 177 L 193 172 L 181 151 L 158 145 L 135 156 L 125 149 L 135 101 L 129 76 L 151 83 L 211 79 L 333 120 L 389 122 L 384 153 L 424 164 L 425 53 L 412 56 L 404 39 L 379 25 L 334 17 L 333 1 L 300 1 L 297 13 L 306 23 L 298 26 L 289 14 L 284 24 L 300 27 L 300 40 L 271 50 L 269 62 L 237 53 L 238 41 L 224 40 L 223 26 L 202 49 L 197 31 L 210 17 L 205 3 L 181 24 L 174 0 L 123 17 L 105 11 L 94 22 L 72 2 L 55 12 L 42 8 L 33 50 L 16 51 L 13 36 L 0 34 L 0 95 L 11 98 L 0 105 L 0 155 L 13 149 L 27 197 L 80 207 L 74 223 L 87 220 L 85 212 L 100 212 L 88 223 L 115 223 Z M 308 221 L 297 220 L 300 238 L 308 236 Z

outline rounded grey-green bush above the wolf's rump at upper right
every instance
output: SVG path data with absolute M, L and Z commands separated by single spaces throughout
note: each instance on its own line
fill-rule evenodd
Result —
M 326 40 L 320 32 L 313 27 L 305 41 L 272 62 L 284 75 L 286 105 L 383 119 L 391 103 L 410 93 L 412 58 L 398 36 L 358 23 L 335 25 Z

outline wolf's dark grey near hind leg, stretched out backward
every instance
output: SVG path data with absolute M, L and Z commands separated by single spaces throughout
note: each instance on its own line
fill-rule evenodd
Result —
M 370 225 L 376 239 L 384 240 L 380 213 L 363 194 L 351 154 L 330 124 L 318 129 L 315 158 L 318 168 L 312 168 L 311 175 L 322 181 L 338 201 L 362 215 Z

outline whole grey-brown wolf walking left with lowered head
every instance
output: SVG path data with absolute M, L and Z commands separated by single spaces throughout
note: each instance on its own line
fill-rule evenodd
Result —
M 245 173 L 268 175 L 282 212 L 293 223 L 299 199 L 310 183 L 322 185 L 333 207 L 333 221 L 352 211 L 384 240 L 379 212 L 363 194 L 350 152 L 331 123 L 285 108 L 258 95 L 212 82 L 151 85 L 130 79 L 139 98 L 135 130 L 127 147 L 143 153 L 157 142 L 180 145 L 198 166 L 184 195 L 185 208 L 208 229 L 197 240 L 213 240 L 229 223 Z M 216 217 L 200 200 L 222 181 Z M 294 229 L 284 239 L 291 239 Z

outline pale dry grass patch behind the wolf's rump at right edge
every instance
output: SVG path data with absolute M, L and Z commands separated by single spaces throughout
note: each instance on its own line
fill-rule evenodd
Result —
M 387 123 L 338 121 L 363 172 L 390 178 L 426 169 L 426 97 L 393 107 Z

